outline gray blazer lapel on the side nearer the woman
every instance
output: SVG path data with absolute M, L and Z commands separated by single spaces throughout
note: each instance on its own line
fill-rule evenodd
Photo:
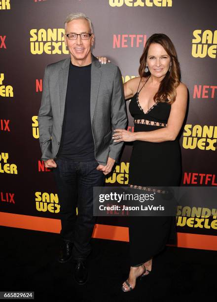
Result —
M 91 124 L 97 103 L 97 96 L 101 81 L 101 65 L 96 57 L 92 55 L 92 66 L 91 66 L 91 89 L 90 89 L 90 118 Z

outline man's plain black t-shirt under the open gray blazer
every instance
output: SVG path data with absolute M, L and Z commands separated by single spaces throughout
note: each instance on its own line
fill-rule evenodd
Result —
M 95 159 L 90 120 L 91 64 L 70 64 L 66 104 L 58 157 L 73 161 Z

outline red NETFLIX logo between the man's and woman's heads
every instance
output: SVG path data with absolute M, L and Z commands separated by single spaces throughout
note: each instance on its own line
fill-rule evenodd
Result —
M 113 35 L 113 48 L 144 47 L 146 35 Z

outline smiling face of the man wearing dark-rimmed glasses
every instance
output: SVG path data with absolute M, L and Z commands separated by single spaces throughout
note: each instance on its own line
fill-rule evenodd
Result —
M 66 34 L 91 34 L 90 26 L 85 19 L 76 19 L 66 24 Z M 65 36 L 65 43 L 68 46 L 69 52 L 76 61 L 85 61 L 91 55 L 91 46 L 94 42 L 94 35 L 88 40 L 82 40 L 77 36 L 76 40 L 69 40 Z

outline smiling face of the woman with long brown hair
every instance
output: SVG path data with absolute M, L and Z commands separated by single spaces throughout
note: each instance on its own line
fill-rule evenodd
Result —
M 150 44 L 146 64 L 152 76 L 163 77 L 170 68 L 170 56 L 158 43 Z

